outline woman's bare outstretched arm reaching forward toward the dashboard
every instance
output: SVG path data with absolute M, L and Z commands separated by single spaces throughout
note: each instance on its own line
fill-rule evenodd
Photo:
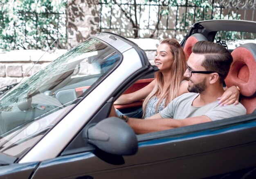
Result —
M 133 93 L 124 94 L 121 95 L 115 102 L 114 105 L 118 104 L 129 104 L 135 101 L 139 101 L 141 99 L 145 99 L 149 93 L 153 90 L 155 87 L 155 80 L 150 82 L 147 86 L 144 88 L 139 89 L 138 91 L 135 91 Z

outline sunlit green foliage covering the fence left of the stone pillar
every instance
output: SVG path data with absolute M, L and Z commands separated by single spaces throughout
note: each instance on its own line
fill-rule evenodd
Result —
M 58 36 L 52 48 L 65 48 L 65 6 L 65 0 L 2 0 L 0 49 L 45 49 Z

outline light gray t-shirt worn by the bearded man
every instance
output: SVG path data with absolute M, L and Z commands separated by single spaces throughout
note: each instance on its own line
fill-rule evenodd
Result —
M 173 99 L 166 108 L 159 112 L 162 118 L 185 119 L 187 117 L 196 117 L 206 115 L 212 121 L 245 115 L 246 109 L 242 104 L 220 106 L 218 100 L 210 104 L 195 107 L 192 106 L 193 100 L 198 93 L 185 93 Z

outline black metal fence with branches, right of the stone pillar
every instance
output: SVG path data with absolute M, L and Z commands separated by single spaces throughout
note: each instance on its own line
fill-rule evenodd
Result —
M 127 38 L 177 38 L 200 20 L 256 20 L 256 0 L 104 0 L 100 31 Z

